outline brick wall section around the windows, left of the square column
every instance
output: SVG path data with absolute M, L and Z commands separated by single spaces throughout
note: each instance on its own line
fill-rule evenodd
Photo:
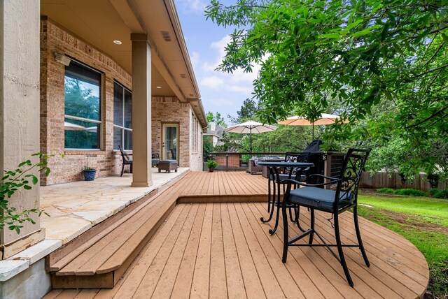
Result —
M 102 77 L 102 150 L 69 151 L 64 149 L 64 71 L 55 53 L 73 57 L 103 73 Z M 41 150 L 59 152 L 65 159 L 52 159 L 52 173 L 43 184 L 82 180 L 82 169 L 89 156 L 89 166 L 97 168 L 97 177 L 114 173 L 113 154 L 113 80 L 130 88 L 132 78 L 111 57 L 92 45 L 64 31 L 51 20 L 41 20 Z

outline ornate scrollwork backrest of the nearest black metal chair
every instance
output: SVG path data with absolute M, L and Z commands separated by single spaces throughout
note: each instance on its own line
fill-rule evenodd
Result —
M 363 173 L 365 161 L 367 161 L 371 150 L 351 148 L 346 153 L 337 183 L 335 207 L 342 199 L 348 200 L 350 206 L 356 204 L 361 173 Z

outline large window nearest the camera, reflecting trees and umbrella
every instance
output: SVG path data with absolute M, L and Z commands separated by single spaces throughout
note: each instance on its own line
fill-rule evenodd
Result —
M 71 60 L 64 76 L 66 149 L 100 149 L 102 74 Z

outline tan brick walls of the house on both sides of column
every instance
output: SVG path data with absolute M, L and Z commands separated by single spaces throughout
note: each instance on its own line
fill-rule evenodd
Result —
M 92 152 L 64 149 L 65 66 L 55 60 L 56 52 L 103 73 L 102 150 Z M 49 177 L 41 177 L 41 184 L 83 180 L 82 170 L 87 162 L 87 155 L 89 166 L 97 168 L 97 177 L 120 174 L 121 156 L 113 151 L 114 79 L 132 90 L 131 75 L 111 57 L 64 31 L 52 20 L 41 20 L 41 151 L 65 154 L 65 159 L 55 158 L 49 161 L 51 174 Z M 189 103 L 179 103 L 176 98 L 153 98 L 153 152 L 160 153 L 162 122 L 179 123 L 179 158 L 182 167 L 190 166 L 190 109 Z

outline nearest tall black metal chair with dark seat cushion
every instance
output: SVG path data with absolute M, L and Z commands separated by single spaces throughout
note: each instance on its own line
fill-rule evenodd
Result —
M 349 269 L 347 268 L 346 261 L 344 258 L 344 251 L 342 247 L 358 247 L 363 255 L 365 265 L 370 267 L 370 262 L 365 254 L 363 241 L 361 240 L 361 235 L 359 231 L 358 224 L 358 187 L 360 181 L 360 175 L 364 170 L 365 161 L 367 156 L 369 156 L 371 149 L 349 149 L 347 152 L 343 167 L 339 177 L 324 177 L 330 182 L 325 182 L 323 184 L 303 184 L 297 180 L 288 180 L 288 185 L 286 188 L 285 198 L 283 199 L 283 263 L 286 263 L 286 258 L 288 256 L 289 246 L 320 246 L 327 247 L 335 258 L 341 263 L 344 269 L 344 274 L 349 282 L 350 286 L 353 286 L 353 281 L 351 280 Z M 304 188 L 293 189 L 293 185 L 302 185 Z M 335 190 L 322 189 L 322 187 L 327 184 L 337 184 Z M 286 204 L 285 204 L 286 203 Z M 286 207 L 288 205 L 298 205 L 302 207 L 308 207 L 311 214 L 311 225 L 307 231 L 302 230 L 300 235 L 289 239 L 288 237 L 288 217 L 286 216 Z M 358 244 L 342 244 L 341 237 L 339 235 L 339 217 L 338 215 L 346 210 L 353 208 L 353 219 L 356 231 L 356 237 L 358 238 Z M 323 212 L 328 212 L 334 217 L 334 228 L 335 228 L 335 238 L 336 244 L 328 244 L 322 236 L 315 230 L 315 220 L 314 220 L 314 210 L 320 210 Z M 298 218 L 297 224 L 298 224 Z M 299 226 L 300 228 L 300 226 Z M 308 244 L 296 244 L 296 242 L 309 235 Z M 313 244 L 314 235 L 316 235 L 323 244 Z M 339 256 L 331 249 L 331 247 L 337 247 Z

